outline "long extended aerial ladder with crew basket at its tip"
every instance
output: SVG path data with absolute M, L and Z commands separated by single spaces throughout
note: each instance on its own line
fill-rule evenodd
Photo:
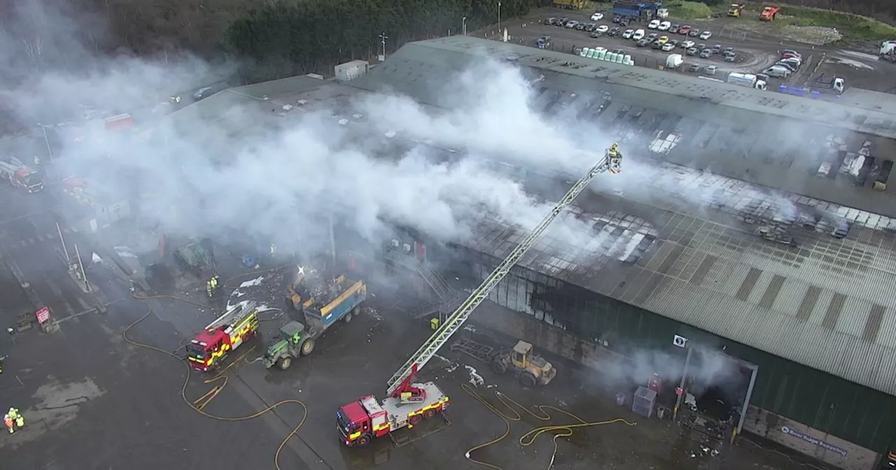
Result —
M 408 362 L 404 363 L 404 365 L 401 366 L 401 369 L 392 375 L 392 378 L 387 382 L 389 386 L 387 394 L 390 397 L 392 397 L 396 391 L 399 391 L 401 387 L 406 386 L 409 377 L 417 372 L 418 369 L 426 365 L 426 363 L 433 358 L 435 353 L 444 346 L 449 339 L 451 339 L 454 333 L 457 332 L 458 329 L 461 329 L 464 322 L 470 318 L 470 313 L 478 307 L 479 303 L 482 303 L 482 301 L 488 297 L 492 289 L 501 282 L 501 279 L 503 279 L 504 276 L 507 276 L 510 269 L 522 259 L 523 255 L 525 255 L 526 252 L 529 252 L 530 248 L 538 239 L 538 236 L 543 234 L 547 229 L 547 226 L 549 226 L 551 222 L 563 212 L 566 206 L 575 200 L 585 187 L 588 186 L 591 180 L 594 179 L 594 176 L 605 171 L 614 174 L 618 173 L 621 161 L 622 154 L 619 153 L 618 145 L 614 143 L 610 149 L 607 149 L 604 158 L 601 158 L 597 165 L 591 167 L 587 175 L 582 176 L 582 179 L 576 182 L 576 184 L 573 184 L 573 187 L 566 192 L 564 197 L 560 201 L 557 201 L 554 209 L 551 209 L 547 216 L 538 223 L 538 226 L 536 226 L 530 234 L 513 249 L 513 252 L 511 252 L 504 261 L 501 261 L 501 264 L 499 264 L 497 268 L 482 281 L 482 284 L 470 294 L 470 297 L 467 297 L 467 300 L 461 303 L 461 306 L 448 317 L 448 320 L 445 320 L 442 327 L 436 330 L 433 336 L 427 339 L 426 343 L 424 343 L 414 355 L 410 356 Z

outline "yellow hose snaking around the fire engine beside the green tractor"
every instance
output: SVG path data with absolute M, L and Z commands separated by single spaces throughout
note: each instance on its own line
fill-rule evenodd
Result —
M 282 267 L 280 267 L 280 268 L 282 268 Z M 254 272 L 251 272 L 251 273 L 246 273 L 246 274 L 243 274 L 243 275 L 240 275 L 240 276 L 236 276 L 236 277 L 234 277 L 234 278 L 229 278 L 227 281 L 224 282 L 223 285 L 227 285 L 228 282 L 230 282 L 230 281 L 232 281 L 232 280 L 234 280 L 234 279 L 236 279 L 236 278 L 242 278 L 242 277 L 247 276 L 247 275 L 258 274 L 258 273 L 261 273 L 261 272 L 273 271 L 273 270 L 280 269 L 280 268 L 263 269 L 263 270 L 261 270 L 261 271 L 254 271 Z M 192 303 L 192 304 L 194 304 L 194 305 L 199 305 L 199 306 L 202 306 L 202 307 L 207 306 L 207 305 L 204 305 L 204 304 L 201 304 L 201 303 L 196 303 L 196 302 L 193 302 L 193 301 L 190 301 L 190 300 L 187 300 L 187 299 L 183 299 L 183 298 L 180 298 L 180 297 L 177 297 L 177 296 L 174 296 L 174 295 L 151 295 L 151 296 L 138 296 L 138 295 L 134 295 L 134 298 L 135 298 L 135 299 L 138 299 L 138 300 L 143 300 L 143 301 L 146 301 L 146 300 L 149 300 L 149 299 L 168 298 L 168 299 L 178 300 L 178 301 L 185 302 L 185 303 Z M 274 310 L 274 309 L 272 309 L 272 310 Z M 279 310 L 279 309 L 275 309 L 275 310 Z M 244 360 L 246 359 L 246 355 L 249 355 L 252 351 L 254 351 L 254 347 L 250 348 L 249 350 L 247 350 L 247 351 L 246 351 L 245 353 L 243 353 L 242 355 L 239 355 L 234 361 L 232 361 L 231 363 L 229 363 L 229 364 L 227 365 L 227 367 L 225 367 L 224 369 L 222 369 L 220 372 L 218 372 L 218 373 L 217 373 L 214 377 L 212 377 L 211 379 L 203 380 L 203 383 L 205 383 L 205 384 L 208 384 L 208 385 L 215 384 L 215 385 L 214 385 L 208 392 L 206 392 L 205 394 L 203 394 L 202 397 L 198 397 L 198 398 L 195 398 L 195 399 L 191 400 L 189 397 L 186 396 L 186 389 L 187 389 L 187 387 L 188 387 L 189 384 L 190 384 L 190 378 L 192 377 L 192 374 L 193 374 L 193 368 L 190 367 L 190 364 L 186 363 L 180 356 L 178 356 L 178 355 L 176 354 L 177 349 L 176 349 L 174 352 L 172 352 L 172 351 L 168 351 L 168 350 L 162 349 L 162 348 L 159 347 L 159 346 L 152 346 L 152 345 L 147 345 L 147 344 L 144 344 L 144 343 L 140 343 L 140 342 L 138 342 L 138 341 L 135 341 L 135 340 L 132 339 L 132 338 L 128 338 L 128 336 L 127 336 L 128 332 L 129 332 L 131 329 L 134 329 L 134 327 L 136 327 L 138 324 L 140 324 L 143 320 L 146 320 L 147 318 L 149 318 L 150 315 L 151 315 L 152 313 L 153 313 L 153 312 L 152 312 L 152 308 L 151 308 L 150 306 L 147 306 L 147 312 L 146 312 L 146 314 L 144 314 L 144 315 L 143 315 L 142 317 L 140 317 L 139 319 L 135 320 L 133 323 L 131 323 L 130 325 L 128 325 L 127 328 L 125 328 L 124 331 L 122 331 L 122 338 L 124 338 L 125 341 L 126 341 L 128 344 L 130 344 L 130 345 L 138 346 L 138 347 L 142 347 L 142 348 L 145 348 L 145 349 L 150 349 L 150 350 L 152 350 L 152 351 L 157 351 L 157 352 L 159 352 L 159 353 L 162 353 L 162 354 L 165 354 L 165 355 L 169 355 L 169 356 L 171 356 L 171 357 L 174 357 L 175 359 L 177 359 L 177 360 L 180 361 L 181 363 L 184 363 L 184 365 L 185 365 L 185 367 L 186 367 L 186 376 L 185 376 L 185 378 L 184 378 L 184 385 L 181 387 L 181 390 L 180 390 L 180 396 L 184 399 L 184 403 L 186 404 L 186 406 L 189 406 L 190 408 L 192 408 L 193 411 L 195 411 L 196 413 L 198 413 L 198 414 L 202 414 L 203 416 L 205 416 L 205 417 L 207 417 L 207 418 L 211 418 L 211 419 L 213 419 L 213 420 L 217 420 L 217 421 L 224 421 L 224 422 L 241 422 L 241 421 L 248 421 L 248 420 L 257 418 L 257 417 L 259 417 L 259 416 L 262 416 L 263 414 L 267 414 L 268 412 L 273 411 L 275 408 L 277 408 L 277 407 L 279 407 L 279 406 L 284 406 L 284 405 L 288 405 L 288 404 L 294 404 L 294 405 L 297 405 L 297 406 L 301 406 L 301 407 L 302 407 L 302 419 L 301 419 L 301 421 L 299 421 L 299 423 L 296 425 L 296 427 L 293 428 L 293 430 L 292 430 L 291 432 L 289 432 L 289 434 L 287 434 L 287 436 L 286 436 L 285 438 L 283 438 L 283 440 L 280 442 L 280 446 L 278 446 L 278 448 L 277 448 L 277 452 L 274 454 L 274 467 L 275 467 L 277 470 L 282 470 L 282 469 L 280 468 L 280 453 L 282 452 L 283 448 L 286 447 L 287 443 L 289 443 L 289 440 L 292 439 L 293 436 L 297 436 L 297 432 L 298 432 L 299 428 L 301 428 L 302 425 L 305 424 L 305 420 L 306 420 L 306 418 L 307 418 L 307 416 L 308 416 L 308 407 L 305 405 L 305 403 L 303 403 L 301 400 L 296 400 L 296 399 L 282 400 L 282 401 L 279 401 L 279 402 L 277 402 L 277 403 L 275 403 L 275 404 L 273 404 L 273 405 L 271 405 L 271 406 L 268 406 L 268 407 L 264 408 L 262 411 L 259 411 L 259 412 L 257 412 L 257 413 L 254 413 L 254 414 L 248 414 L 248 415 L 246 415 L 246 416 L 236 416 L 236 417 L 218 416 L 218 415 L 215 415 L 215 414 L 211 414 L 211 413 L 206 412 L 206 411 L 205 411 L 205 407 L 208 406 L 209 403 L 211 403 L 211 400 L 213 400 L 215 397 L 218 397 L 218 395 L 220 394 L 220 392 L 221 392 L 221 391 L 224 389 L 224 387 L 227 385 L 227 383 L 228 383 L 228 377 L 229 377 L 229 376 L 227 375 L 227 372 L 228 372 L 228 371 L 230 370 L 230 368 L 233 367 L 235 364 L 240 363 L 241 361 L 244 361 Z M 271 320 L 271 319 L 268 319 L 268 320 Z M 183 346 L 181 346 L 181 347 L 183 347 Z M 178 349 L 179 349 L 179 348 L 178 348 Z

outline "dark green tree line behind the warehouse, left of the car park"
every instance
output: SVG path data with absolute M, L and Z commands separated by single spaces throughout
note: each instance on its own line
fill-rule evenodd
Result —
M 230 24 L 222 45 L 253 62 L 249 81 L 328 73 L 332 65 L 389 53 L 409 41 L 437 38 L 521 16 L 550 0 L 306 0 L 274 2 Z M 464 21 L 466 17 L 466 21 Z

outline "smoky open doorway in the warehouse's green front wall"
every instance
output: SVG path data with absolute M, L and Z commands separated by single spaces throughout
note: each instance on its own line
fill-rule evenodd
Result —
M 676 420 L 712 440 L 730 443 L 743 430 L 759 367 L 724 350 L 688 346 L 676 394 Z

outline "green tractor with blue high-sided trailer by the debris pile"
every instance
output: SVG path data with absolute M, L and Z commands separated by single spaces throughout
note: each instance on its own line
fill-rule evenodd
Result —
M 300 312 L 305 321 L 289 321 L 280 327 L 277 342 L 263 356 L 264 366 L 269 369 L 274 365 L 289 369 L 293 359 L 310 355 L 324 331 L 339 320 L 351 321 L 367 299 L 364 281 L 326 275 L 311 266 L 298 268 L 287 292 L 287 307 Z

